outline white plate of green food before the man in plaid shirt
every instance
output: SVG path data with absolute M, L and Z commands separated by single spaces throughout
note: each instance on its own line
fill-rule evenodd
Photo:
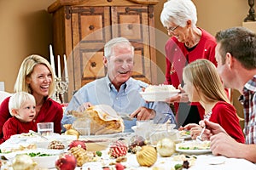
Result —
M 176 151 L 182 152 L 185 154 L 207 154 L 211 153 L 210 150 L 210 141 L 202 141 L 198 142 L 196 140 L 183 142 L 180 144 L 176 144 Z

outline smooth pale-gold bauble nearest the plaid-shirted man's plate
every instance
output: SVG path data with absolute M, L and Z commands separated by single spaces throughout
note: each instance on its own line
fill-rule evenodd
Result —
M 175 144 L 172 139 L 161 139 L 156 144 L 156 150 L 160 156 L 169 157 L 175 152 Z

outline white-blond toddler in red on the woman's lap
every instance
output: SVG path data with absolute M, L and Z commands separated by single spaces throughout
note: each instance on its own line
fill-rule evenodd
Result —
M 7 140 L 14 134 L 28 133 L 33 129 L 32 120 L 36 116 L 36 100 L 32 94 L 19 92 L 9 99 L 9 112 L 13 116 L 3 124 L 3 139 Z

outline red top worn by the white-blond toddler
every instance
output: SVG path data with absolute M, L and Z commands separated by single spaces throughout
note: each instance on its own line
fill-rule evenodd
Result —
M 11 117 L 3 124 L 3 140 L 6 141 L 14 134 L 28 133 L 29 130 L 37 131 L 36 122 L 20 122 L 16 117 Z

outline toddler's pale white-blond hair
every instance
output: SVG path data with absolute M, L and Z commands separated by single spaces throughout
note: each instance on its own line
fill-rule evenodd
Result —
M 11 116 L 14 116 L 12 110 L 20 109 L 21 105 L 23 105 L 26 101 L 32 101 L 36 105 L 36 100 L 32 94 L 28 94 L 26 92 L 18 92 L 13 94 L 9 98 L 9 112 Z

